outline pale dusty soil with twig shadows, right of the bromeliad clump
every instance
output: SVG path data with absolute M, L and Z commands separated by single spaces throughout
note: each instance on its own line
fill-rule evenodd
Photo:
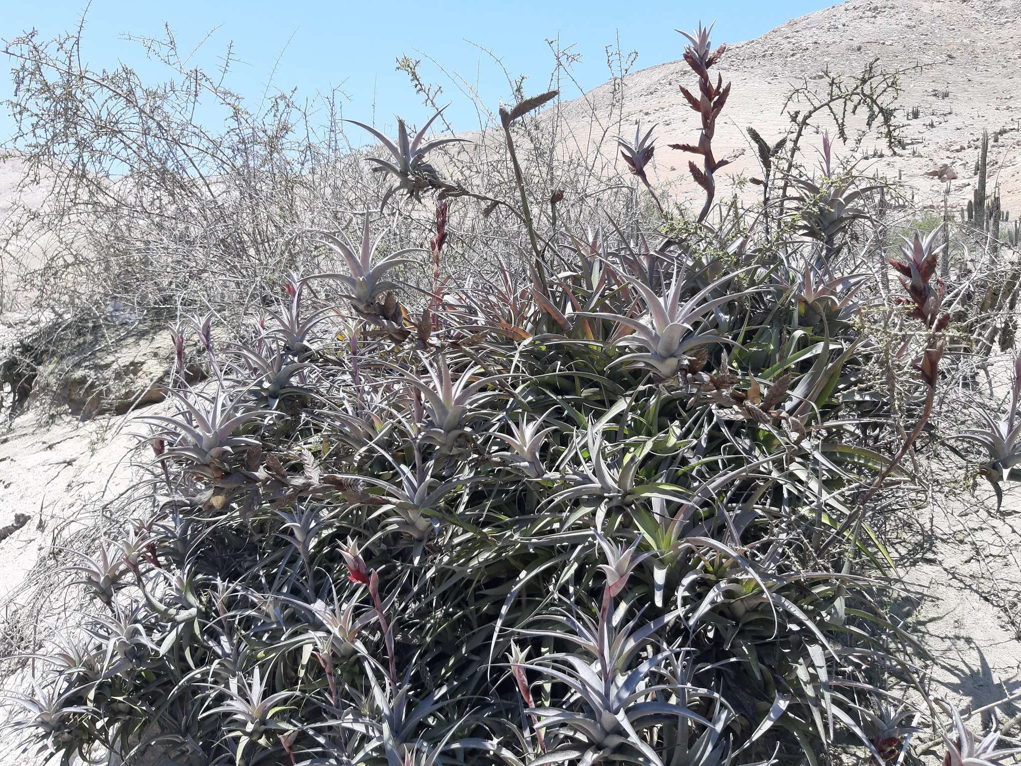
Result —
M 965 408 L 1004 403 L 1012 363 L 1009 354 L 992 356 L 993 393 L 962 392 Z M 929 655 L 933 696 L 978 710 L 1021 696 L 1021 483 L 1004 482 L 998 511 L 992 488 L 959 459 L 940 452 L 929 468 L 927 508 L 901 520 L 893 535 L 918 599 L 909 625 Z M 1019 711 L 1018 701 L 1009 702 L 969 725 L 988 730 Z M 1018 733 L 1015 724 L 1011 734 Z

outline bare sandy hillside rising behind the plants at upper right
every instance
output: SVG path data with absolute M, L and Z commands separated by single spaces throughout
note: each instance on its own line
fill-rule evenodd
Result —
M 730 98 L 717 127 L 716 155 L 725 157 L 746 149 L 744 155 L 717 177 L 720 194 L 740 176 L 760 175 L 755 151 L 744 136 L 755 127 L 767 140 L 776 140 L 790 125 L 782 111 L 793 86 L 822 88 L 824 68 L 853 76 L 871 60 L 901 76 L 903 93 L 897 119 L 904 123 L 907 148 L 890 156 L 861 162 L 870 175 L 903 180 L 921 203 L 941 203 L 943 182 L 924 174 L 949 164 L 957 173 L 952 183 L 952 205 L 964 205 L 974 191 L 974 163 L 982 130 L 1006 129 L 990 143 L 989 177 L 999 183 L 1004 209 L 1021 214 L 1021 38 L 1017 21 L 1019 0 L 852 0 L 795 18 L 748 42 L 730 44 L 719 71 L 732 83 Z M 684 40 L 678 36 L 678 51 Z M 715 44 L 728 42 L 716 39 Z M 635 121 L 658 124 L 654 178 L 675 193 L 689 196 L 696 187 L 687 175 L 692 155 L 668 148 L 671 143 L 695 143 L 698 115 L 681 96 L 678 85 L 695 87 L 695 77 L 682 60 L 650 66 L 624 81 L 625 136 L 634 135 Z M 944 92 L 949 95 L 943 98 Z M 596 88 L 568 105 L 581 126 L 588 122 L 589 104 L 596 111 L 609 105 L 612 86 Z M 917 119 L 906 119 L 905 108 L 919 107 Z M 793 104 L 789 110 L 804 108 Z M 860 124 L 861 121 L 855 121 Z M 825 123 L 822 123 L 825 125 Z M 603 126 L 611 136 L 616 125 Z M 578 135 L 583 135 L 579 128 Z M 821 140 L 807 134 L 803 149 L 815 161 Z M 861 157 L 878 148 L 869 140 L 857 151 L 839 147 L 838 154 Z M 604 150 L 612 150 L 607 143 Z M 991 189 L 990 189 L 991 192 Z M 1012 219 L 1013 220 L 1013 217 Z

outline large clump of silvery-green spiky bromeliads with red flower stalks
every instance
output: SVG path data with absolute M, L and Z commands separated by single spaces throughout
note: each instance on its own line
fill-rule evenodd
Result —
M 728 91 L 690 40 L 703 220 Z M 501 112 L 510 161 L 548 98 Z M 920 357 L 905 439 L 860 395 L 885 309 L 839 273 L 853 179 L 806 194 L 783 247 L 753 226 L 537 236 L 522 185 L 524 249 L 453 284 L 448 200 L 478 195 L 425 130 L 378 138 L 396 190 L 442 197 L 432 287 L 405 287 L 419 251 L 379 252 L 367 211 L 308 242 L 337 271 L 294 275 L 254 336 L 214 347 L 197 323 L 217 374 L 139 419 L 155 510 L 81 556 L 97 609 L 46 655 L 21 734 L 195 766 L 903 758 L 924 711 L 895 704 L 913 670 L 867 514 L 938 382 L 935 239 L 894 265 Z

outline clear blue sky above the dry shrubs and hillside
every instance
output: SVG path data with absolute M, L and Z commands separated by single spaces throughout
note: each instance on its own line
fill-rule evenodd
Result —
M 453 127 L 470 130 L 477 126 L 474 110 L 427 56 L 477 85 L 486 102 L 495 105 L 499 98 L 507 98 L 506 80 L 477 46 L 499 56 L 510 73 L 528 76 L 526 91 L 538 93 L 545 90 L 552 64 L 544 40 L 560 36 L 562 45 L 574 43 L 573 51 L 582 56 L 575 73 L 587 89 L 610 79 L 604 46 L 618 37 L 622 49 L 638 51 L 637 69 L 679 58 L 683 39 L 674 30 L 693 28 L 699 15 L 706 21 L 716 20 L 715 42 L 737 42 L 829 4 L 826 0 L 93 0 L 84 59 L 95 67 L 124 61 L 158 78 L 160 67 L 146 62 L 144 51 L 124 40 L 125 34 L 159 36 L 166 21 L 181 47 L 191 50 L 218 28 L 194 60 L 212 67 L 233 42 L 241 62 L 228 85 L 246 99 L 257 102 L 268 85 L 297 87 L 307 95 L 340 87 L 351 97 L 344 106 L 345 116 L 372 122 L 375 104 L 378 124 L 392 123 L 394 113 L 421 124 L 428 110 L 406 75 L 394 69 L 395 58 L 407 54 L 423 59 L 424 75 L 444 86 L 441 101 L 452 102 L 447 114 Z M 83 0 L 0 0 L 0 38 L 9 40 L 32 28 L 50 37 L 77 26 L 84 6 Z M 9 59 L 4 63 L 0 99 L 11 92 Z M 573 97 L 577 91 L 566 95 Z M 4 111 L 0 140 L 10 129 Z

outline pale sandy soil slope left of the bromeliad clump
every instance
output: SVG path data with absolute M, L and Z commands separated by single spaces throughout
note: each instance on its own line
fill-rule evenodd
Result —
M 123 419 L 83 423 L 69 414 L 40 424 L 29 412 L 0 435 L 0 668 L 4 691 L 25 689 L 34 664 L 11 657 L 39 651 L 54 630 L 72 623 L 76 579 L 64 545 L 95 553 L 100 530 L 115 526 L 114 509 L 133 485 L 128 458 L 136 443 Z M 77 546 L 75 545 L 75 546 Z M 13 675 L 9 675 L 13 671 Z M 9 733 L 0 763 L 35 766 Z

